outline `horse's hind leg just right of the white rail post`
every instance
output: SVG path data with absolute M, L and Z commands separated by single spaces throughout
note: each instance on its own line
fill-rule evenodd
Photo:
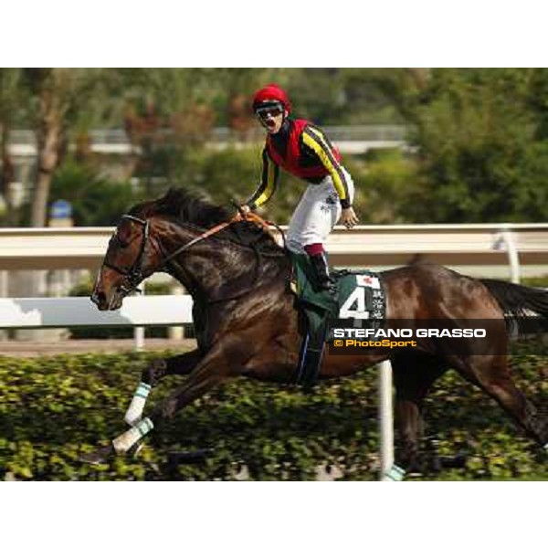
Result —
M 401 353 L 392 359 L 395 384 L 395 418 L 401 448 L 396 454 L 399 469 L 420 469 L 418 436 L 422 434 L 422 405 L 430 388 L 448 365 L 426 353 Z

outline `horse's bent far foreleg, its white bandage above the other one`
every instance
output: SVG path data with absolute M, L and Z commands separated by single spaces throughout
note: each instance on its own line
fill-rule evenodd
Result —
M 153 360 L 143 371 L 141 382 L 135 390 L 132 402 L 126 411 L 124 420 L 130 426 L 135 426 L 142 418 L 142 411 L 151 389 L 158 385 L 164 376 L 169 374 L 189 374 L 200 362 L 203 353 L 198 349 L 178 354 L 169 358 Z

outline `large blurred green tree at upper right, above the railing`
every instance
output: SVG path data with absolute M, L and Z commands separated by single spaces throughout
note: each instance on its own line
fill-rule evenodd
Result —
M 410 221 L 544 219 L 548 147 L 546 103 L 533 99 L 545 86 L 538 76 L 537 69 L 516 68 L 378 75 L 416 149 L 419 172 L 405 200 Z

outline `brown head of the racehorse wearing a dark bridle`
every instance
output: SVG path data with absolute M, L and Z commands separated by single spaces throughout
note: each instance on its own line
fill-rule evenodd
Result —
M 151 238 L 151 220 L 145 213 L 143 208 L 122 216 L 111 237 L 91 293 L 91 300 L 100 311 L 119 309 L 123 298 L 162 263 L 162 255 Z

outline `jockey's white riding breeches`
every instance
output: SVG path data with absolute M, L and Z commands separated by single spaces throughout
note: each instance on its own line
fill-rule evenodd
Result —
M 347 174 L 348 194 L 353 201 L 352 177 Z M 341 218 L 341 202 L 331 176 L 320 184 L 308 184 L 290 220 L 286 245 L 293 253 L 304 253 L 304 246 L 323 244 Z

